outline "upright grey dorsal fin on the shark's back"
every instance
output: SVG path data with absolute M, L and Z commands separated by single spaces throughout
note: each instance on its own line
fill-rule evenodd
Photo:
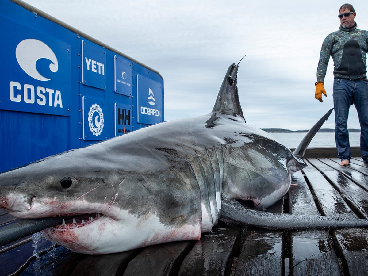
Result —
M 236 86 L 238 67 L 238 65 L 233 63 L 230 65 L 229 69 L 227 69 L 212 112 L 239 116 L 244 120 L 243 111 L 241 110 L 239 102 L 238 88 Z

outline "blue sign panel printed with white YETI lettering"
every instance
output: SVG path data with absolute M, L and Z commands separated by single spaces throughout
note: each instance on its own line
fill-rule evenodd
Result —
M 82 83 L 105 90 L 106 69 L 106 49 L 82 40 Z

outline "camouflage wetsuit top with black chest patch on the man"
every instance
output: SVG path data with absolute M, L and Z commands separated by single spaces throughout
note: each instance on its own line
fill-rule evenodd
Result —
M 317 81 L 325 79 L 327 64 L 332 56 L 333 75 L 339 79 L 367 79 L 368 31 L 355 26 L 330 33 L 322 44 L 317 67 Z

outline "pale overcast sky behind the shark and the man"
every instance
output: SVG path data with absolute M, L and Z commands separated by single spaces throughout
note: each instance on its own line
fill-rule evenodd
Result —
M 247 123 L 309 129 L 333 107 L 314 98 L 323 39 L 339 28 L 336 0 L 169 1 L 25 0 L 82 32 L 159 71 L 165 120 L 209 113 L 227 68 L 239 65 L 238 91 Z M 198 3 L 199 2 L 199 3 Z M 366 0 L 351 2 L 368 29 Z M 331 118 L 323 128 L 335 128 Z M 360 128 L 354 106 L 349 128 Z

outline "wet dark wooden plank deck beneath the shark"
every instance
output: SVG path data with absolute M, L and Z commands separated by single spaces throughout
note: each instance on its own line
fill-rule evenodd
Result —
M 307 158 L 272 212 L 368 216 L 368 166 Z M 14 220 L 1 213 L 0 224 Z M 1 231 L 1 228 L 0 228 Z M 108 255 L 56 247 L 32 256 L 31 238 L 0 248 L 0 275 L 368 275 L 368 229 L 271 231 L 220 223 L 199 241 Z

